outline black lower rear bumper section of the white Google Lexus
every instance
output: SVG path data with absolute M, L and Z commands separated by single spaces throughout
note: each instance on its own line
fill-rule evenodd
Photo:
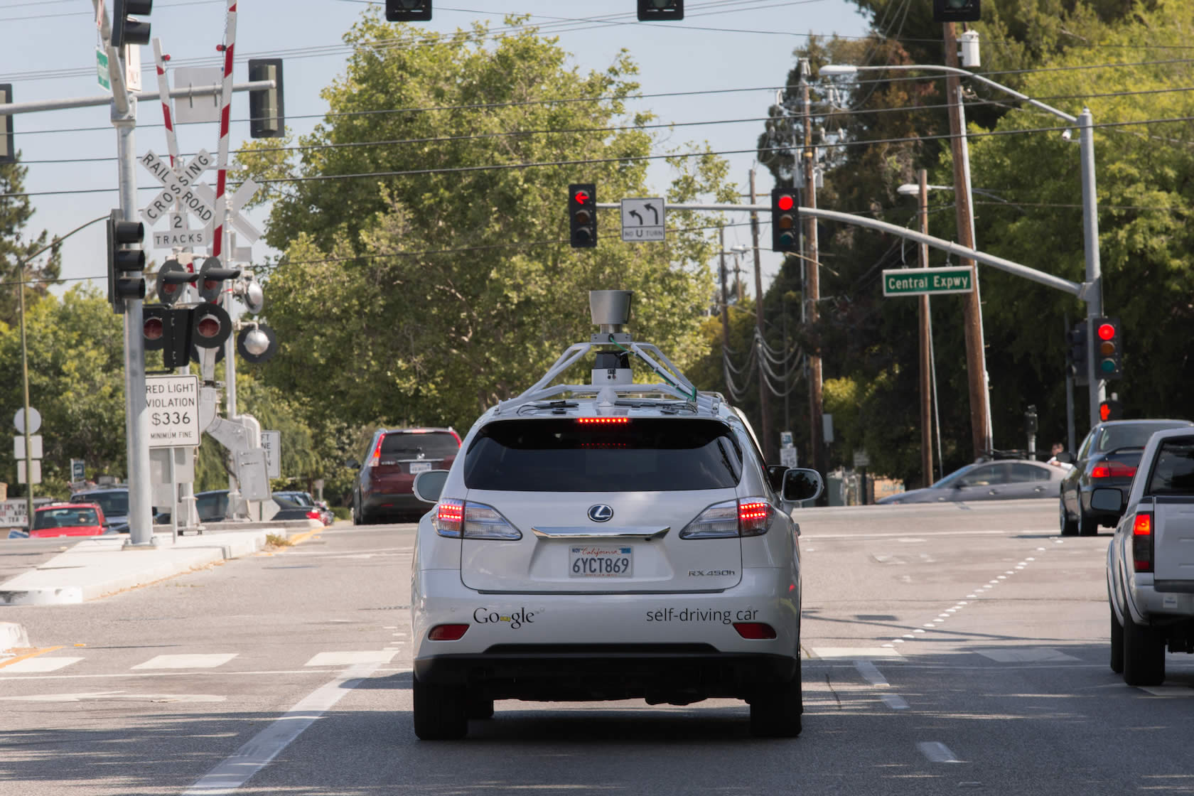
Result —
M 719 653 L 709 644 L 496 644 L 480 654 L 414 661 L 423 683 L 464 685 L 492 699 L 750 699 L 790 681 L 786 655 Z

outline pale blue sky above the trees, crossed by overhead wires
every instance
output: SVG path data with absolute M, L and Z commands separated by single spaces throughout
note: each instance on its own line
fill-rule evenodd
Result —
M 343 73 L 346 48 L 343 33 L 369 5 L 365 0 L 240 0 L 236 20 L 234 79 L 248 79 L 250 57 L 281 56 L 285 60 L 287 124 L 307 132 L 326 111 L 319 97 L 333 78 Z M 642 92 L 693 92 L 750 90 L 635 100 L 654 111 L 661 122 L 684 124 L 669 136 L 673 143 L 708 141 L 714 150 L 747 150 L 727 155 L 731 177 L 745 191 L 755 163 L 751 149 L 762 122 L 793 66 L 792 51 L 808 33 L 860 36 L 866 19 L 844 0 L 688 0 L 685 19 L 678 23 L 639 23 L 634 0 L 436 0 L 433 19 L 416 23 L 427 30 L 450 31 L 488 19 L 500 27 L 506 14 L 530 14 L 544 33 L 559 36 L 581 69 L 605 69 L 621 48 L 639 63 Z M 111 0 L 107 0 L 109 10 Z M 226 0 L 158 0 L 149 21 L 153 36 L 177 66 L 219 66 L 216 45 L 223 39 Z M 13 84 L 13 101 L 94 97 L 104 93 L 96 76 L 98 32 L 90 0 L 0 0 L 0 84 Z M 578 20 L 567 23 L 566 20 Z M 143 90 L 156 90 L 153 49 L 142 48 Z M 629 106 L 635 110 L 635 104 Z M 232 149 L 248 138 L 248 95 L 236 93 L 232 104 Z M 722 122 L 690 125 L 694 122 Z M 36 214 L 27 229 L 37 234 L 66 234 L 79 224 L 106 215 L 118 205 L 116 132 L 107 106 L 23 113 L 14 118 L 16 144 L 29 165 L 25 190 L 33 196 Z M 219 146 L 216 123 L 179 128 L 183 153 Z M 140 104 L 136 153 L 154 150 L 167 155 L 161 104 Z M 579 179 L 580 175 L 578 175 Z M 205 175 L 215 185 L 214 174 Z M 651 172 L 652 189 L 661 195 L 667 172 Z M 153 197 L 156 181 L 137 166 L 139 204 Z M 771 190 L 771 178 L 759 167 L 759 196 Z M 49 193 L 87 191 L 80 193 Z M 599 186 L 598 186 L 599 192 Z M 603 202 L 621 197 L 599 196 Z M 611 217 L 613 214 L 604 216 Z M 264 211 L 250 216 L 260 228 Z M 730 218 L 730 221 L 745 221 Z M 192 221 L 192 226 L 199 226 Z M 162 222 L 159 230 L 165 229 Z M 603 234 L 610 234 L 603 224 Z M 727 229 L 726 246 L 749 245 L 750 228 Z M 147 230 L 147 247 L 149 234 Z M 778 266 L 769 237 L 764 248 L 764 279 Z M 159 261 L 166 251 L 150 253 Z M 275 254 L 264 242 L 253 247 L 254 259 Z M 105 286 L 104 226 L 94 224 L 63 245 L 62 277 L 94 278 Z M 749 261 L 743 260 L 743 266 Z M 74 282 L 67 283 L 74 284 Z M 750 282 L 747 283 L 750 284 Z M 269 296 L 266 296 L 266 313 Z

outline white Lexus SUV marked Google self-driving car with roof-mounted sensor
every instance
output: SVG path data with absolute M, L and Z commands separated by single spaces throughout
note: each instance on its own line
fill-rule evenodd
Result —
M 462 738 L 494 699 L 750 703 L 756 735 L 801 728 L 800 551 L 813 470 L 767 467 L 743 415 L 697 391 L 593 291 L 601 332 L 486 412 L 412 570 L 414 732 Z M 553 384 L 587 354 L 592 383 Z M 633 383 L 640 375 L 658 383 Z

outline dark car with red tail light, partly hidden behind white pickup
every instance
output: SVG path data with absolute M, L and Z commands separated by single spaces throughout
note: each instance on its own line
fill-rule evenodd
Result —
M 1058 501 L 1061 536 L 1095 536 L 1100 525 L 1114 526 L 1119 514 L 1093 507 L 1091 493 L 1102 487 L 1127 489 L 1149 438 L 1157 431 L 1184 426 L 1194 426 L 1194 422 L 1108 420 L 1095 425 L 1078 446 L 1077 456 L 1072 457 L 1073 469 L 1061 481 Z M 1064 461 L 1071 457 L 1059 455 L 1058 458 Z

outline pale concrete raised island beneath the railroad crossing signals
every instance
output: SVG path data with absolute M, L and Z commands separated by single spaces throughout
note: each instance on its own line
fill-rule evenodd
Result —
M 125 535 L 90 537 L 41 566 L 0 584 L 0 658 L 27 647 L 24 627 L 4 621 L 5 605 L 66 605 L 144 586 L 216 561 L 252 555 L 269 535 L 306 538 L 324 529 L 316 520 L 260 523 L 253 527 L 179 536 L 155 533 L 154 544 L 125 548 Z

